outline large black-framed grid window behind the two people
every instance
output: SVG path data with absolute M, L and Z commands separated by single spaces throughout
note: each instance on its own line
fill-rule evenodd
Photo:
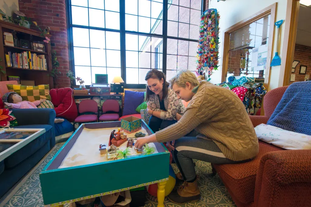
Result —
M 69 55 L 86 85 L 95 74 L 146 87 L 151 69 L 167 79 L 196 69 L 202 0 L 68 0 Z

